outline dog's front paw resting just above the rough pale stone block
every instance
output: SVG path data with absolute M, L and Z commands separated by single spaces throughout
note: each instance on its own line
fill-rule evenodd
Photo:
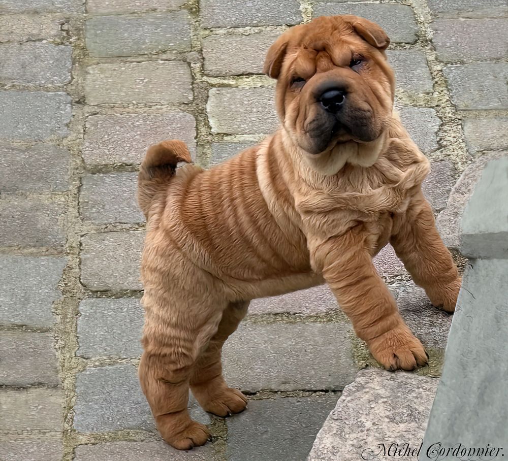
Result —
M 428 354 L 422 343 L 403 325 L 368 343 L 370 352 L 385 369 L 414 370 L 428 363 Z

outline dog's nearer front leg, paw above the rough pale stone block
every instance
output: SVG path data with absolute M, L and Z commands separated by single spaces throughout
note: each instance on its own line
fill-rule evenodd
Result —
M 312 267 L 323 274 L 374 358 L 388 370 L 413 370 L 427 363 L 427 353 L 377 274 L 366 237 L 354 229 L 336 238 L 309 239 Z

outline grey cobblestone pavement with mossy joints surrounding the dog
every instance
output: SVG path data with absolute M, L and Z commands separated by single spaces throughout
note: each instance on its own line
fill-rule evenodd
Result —
M 224 420 L 191 402 L 213 443 L 164 444 L 136 377 L 144 150 L 181 138 L 209 167 L 270 133 L 262 63 L 289 25 L 352 13 L 386 28 L 397 106 L 432 161 L 425 191 L 451 248 L 485 159 L 508 151 L 506 0 L 184 2 L 0 0 L 2 461 L 303 460 L 340 390 L 373 365 L 313 288 L 252 303 L 225 348 L 249 409 Z M 431 351 L 420 373 L 439 375 L 450 317 L 390 248 L 376 262 Z

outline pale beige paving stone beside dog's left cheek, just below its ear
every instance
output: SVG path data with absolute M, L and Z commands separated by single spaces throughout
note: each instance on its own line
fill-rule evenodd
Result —
M 273 88 L 212 88 L 206 109 L 212 133 L 269 134 L 279 123 Z

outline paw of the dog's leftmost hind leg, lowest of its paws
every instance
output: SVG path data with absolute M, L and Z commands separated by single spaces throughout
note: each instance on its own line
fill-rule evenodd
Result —
M 155 420 L 162 438 L 178 450 L 204 445 L 210 437 L 207 427 L 190 419 L 188 414 L 182 418 L 178 413 L 169 413 L 157 416 Z

